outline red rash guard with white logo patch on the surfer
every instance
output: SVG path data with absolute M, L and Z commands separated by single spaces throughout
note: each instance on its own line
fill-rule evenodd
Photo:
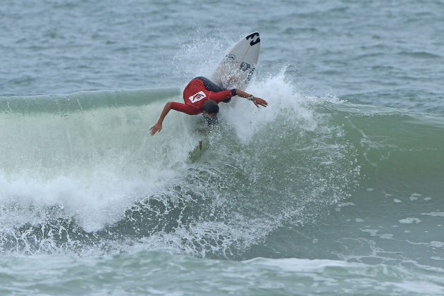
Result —
M 183 101 L 185 104 L 176 101 L 171 102 L 171 109 L 187 113 L 189 115 L 197 115 L 202 113 L 202 106 L 206 101 L 212 99 L 219 104 L 221 101 L 230 99 L 235 94 L 231 90 L 223 90 L 222 92 L 211 92 L 206 90 L 204 82 L 200 79 L 193 79 L 183 90 Z

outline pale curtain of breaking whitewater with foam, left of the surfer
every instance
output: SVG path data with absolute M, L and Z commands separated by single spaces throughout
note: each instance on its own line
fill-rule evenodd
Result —
M 178 113 L 168 116 L 161 133 L 147 135 L 164 103 L 68 118 L 36 115 L 27 118 L 39 125 L 32 129 L 17 121 L 8 133 L 11 145 L 19 148 L 6 151 L 10 159 L 0 172 L 1 226 L 64 217 L 96 231 L 121 220 L 138 199 L 164 188 L 187 167 L 195 140 Z

